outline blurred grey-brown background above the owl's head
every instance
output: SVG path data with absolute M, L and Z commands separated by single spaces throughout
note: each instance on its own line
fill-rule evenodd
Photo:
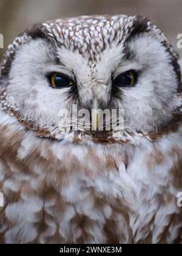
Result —
M 25 27 L 38 21 L 90 14 L 149 16 L 165 32 L 177 49 L 177 34 L 182 33 L 181 0 L 0 0 L 0 34 L 4 49 Z M 182 49 L 177 49 L 182 56 Z

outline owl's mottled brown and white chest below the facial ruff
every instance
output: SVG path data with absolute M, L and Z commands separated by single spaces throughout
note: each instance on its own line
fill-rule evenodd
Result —
M 172 216 L 180 222 L 182 186 L 170 182 L 177 158 L 160 152 L 152 144 L 147 151 L 67 147 L 51 162 L 44 148 L 29 155 L 29 172 L 10 165 L 1 213 L 6 243 L 169 242 L 163 232 Z

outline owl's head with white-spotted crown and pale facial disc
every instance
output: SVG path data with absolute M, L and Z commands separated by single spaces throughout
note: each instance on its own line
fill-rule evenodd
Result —
M 9 109 L 33 129 L 59 132 L 62 109 L 76 104 L 90 112 L 93 102 L 123 109 L 124 126 L 136 131 L 157 130 L 172 118 L 177 56 L 146 18 L 56 20 L 21 37 L 25 42 L 16 40 L 21 46 L 2 62 L 1 80 Z

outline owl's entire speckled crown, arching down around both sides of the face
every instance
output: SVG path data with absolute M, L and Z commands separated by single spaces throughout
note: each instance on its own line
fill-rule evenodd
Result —
M 123 51 L 123 48 L 127 46 L 129 38 L 143 32 L 161 43 L 169 52 L 172 62 L 177 62 L 178 56 L 163 32 L 146 17 L 137 15 L 79 16 L 38 23 L 25 29 L 9 44 L 1 62 L 1 76 L 7 76 L 18 49 L 36 38 L 46 38 L 52 41 L 55 44 L 53 49 L 64 46 L 69 51 L 76 51 L 92 63 L 92 60 L 94 62 L 100 60 L 101 52 L 105 49 L 115 50 L 117 48 L 120 54 L 120 50 Z M 55 46 L 58 47 L 55 48 Z M 105 53 L 107 55 L 107 52 Z

